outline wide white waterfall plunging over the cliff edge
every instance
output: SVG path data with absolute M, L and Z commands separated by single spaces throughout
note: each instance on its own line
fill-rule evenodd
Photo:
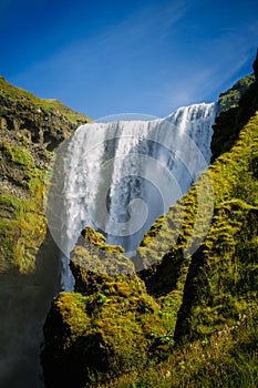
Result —
M 216 103 L 165 119 L 80 126 L 56 156 L 49 226 L 63 252 L 61 283 L 72 289 L 69 255 L 85 225 L 130 256 L 153 222 L 207 167 Z

